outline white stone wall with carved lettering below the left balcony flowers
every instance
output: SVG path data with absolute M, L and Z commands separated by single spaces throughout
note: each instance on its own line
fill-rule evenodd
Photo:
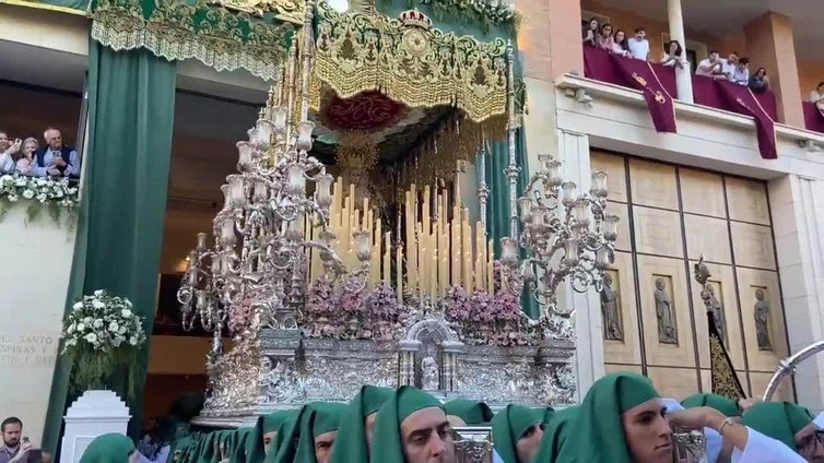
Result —
M 26 224 L 28 201 L 0 219 L 0 413 L 23 420 L 39 444 L 74 252 L 74 233 L 44 212 Z

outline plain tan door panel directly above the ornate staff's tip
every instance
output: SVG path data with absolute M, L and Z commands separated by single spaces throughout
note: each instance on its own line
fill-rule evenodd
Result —
M 703 254 L 708 262 L 732 263 L 727 221 L 684 214 L 684 230 L 687 258 L 698 260 Z

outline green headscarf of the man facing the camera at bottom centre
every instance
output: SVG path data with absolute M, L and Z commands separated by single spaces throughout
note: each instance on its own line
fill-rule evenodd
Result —
M 401 423 L 409 415 L 429 407 L 444 409 L 440 401 L 420 389 L 404 385 L 395 391 L 395 396 L 386 401 L 380 407 L 375 420 L 372 461 L 379 463 L 404 463 Z

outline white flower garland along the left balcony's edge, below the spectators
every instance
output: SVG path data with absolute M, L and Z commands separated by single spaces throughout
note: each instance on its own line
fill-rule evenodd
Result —
M 55 225 L 60 225 L 60 217 L 63 214 L 76 213 L 80 195 L 78 188 L 72 187 L 68 179 L 0 176 L 0 221 L 19 201 L 28 202 L 26 222 L 36 219 L 46 210 Z

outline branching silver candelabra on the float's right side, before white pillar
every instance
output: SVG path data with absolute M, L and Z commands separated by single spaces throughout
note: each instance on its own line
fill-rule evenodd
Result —
M 569 281 L 577 293 L 601 290 L 603 272 L 614 259 L 616 215 L 607 210 L 607 173 L 592 173 L 589 193 L 578 193 L 561 177 L 561 162 L 539 155 L 540 169 L 517 201 L 523 229 L 502 239 L 501 262 L 506 286 L 516 295 L 527 289 L 543 316 L 570 317 L 558 308 L 557 288 Z M 520 250 L 527 257 L 521 259 Z

